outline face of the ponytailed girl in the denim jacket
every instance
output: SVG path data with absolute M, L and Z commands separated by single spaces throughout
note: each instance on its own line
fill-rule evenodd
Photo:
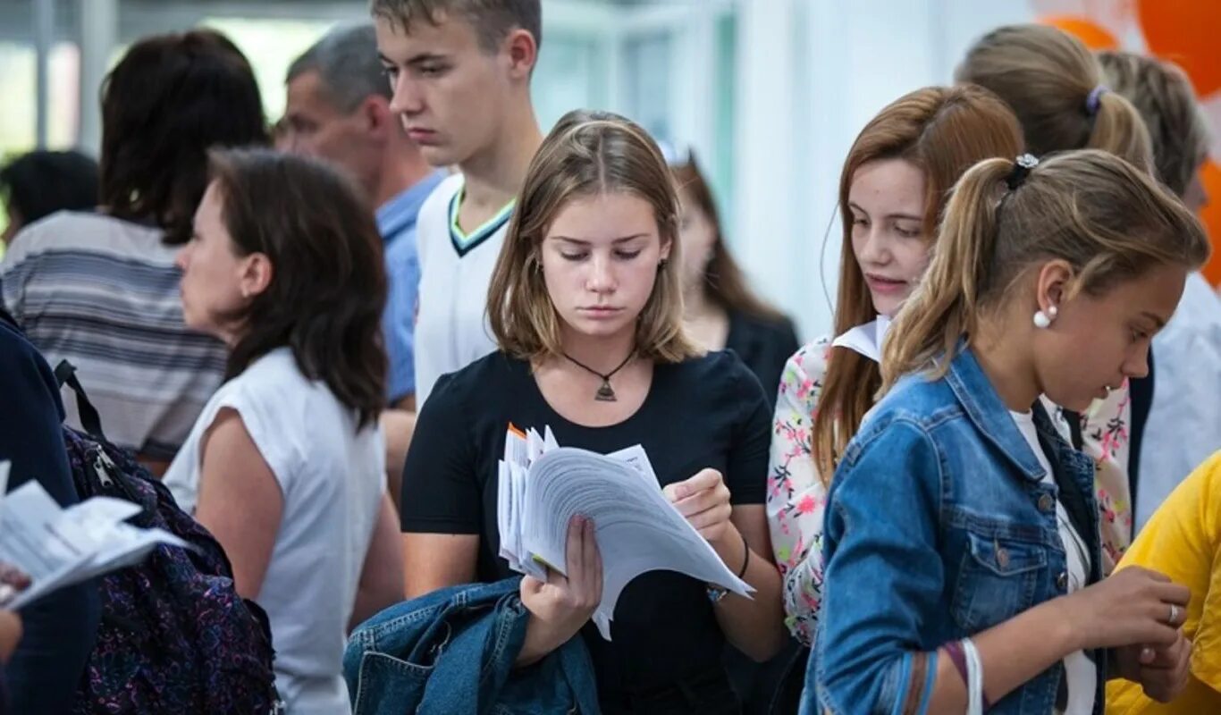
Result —
M 1173 315 L 1186 279 L 1178 266 L 1158 266 L 1101 295 L 1079 293 L 1057 304 L 1051 326 L 1034 329 L 1032 339 L 1043 393 L 1084 411 L 1107 387 L 1148 375 L 1149 344 Z

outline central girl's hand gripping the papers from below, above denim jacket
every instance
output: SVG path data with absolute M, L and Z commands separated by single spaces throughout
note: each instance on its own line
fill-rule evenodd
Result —
M 547 569 L 546 581 L 521 578 L 521 603 L 530 611 L 530 623 L 518 655 L 519 666 L 567 643 L 602 602 L 602 555 L 592 520 L 574 516 L 568 522 L 565 570 L 567 576 Z

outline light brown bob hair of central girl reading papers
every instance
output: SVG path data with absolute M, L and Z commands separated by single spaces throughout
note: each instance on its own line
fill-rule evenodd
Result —
M 540 248 L 575 198 L 625 193 L 648 201 L 670 257 L 636 321 L 636 353 L 656 362 L 700 354 L 683 331 L 683 290 L 674 178 L 645 129 L 619 115 L 575 110 L 543 140 L 518 196 L 487 292 L 487 317 L 502 350 L 538 361 L 563 354 L 560 317 L 543 282 Z

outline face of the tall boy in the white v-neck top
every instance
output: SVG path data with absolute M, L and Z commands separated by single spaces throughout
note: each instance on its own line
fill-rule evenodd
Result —
M 464 17 L 438 20 L 415 22 L 404 33 L 377 18 L 377 51 L 394 93 L 391 111 L 424 159 L 460 166 L 495 145 L 520 67 L 513 59 L 515 35 L 488 54 Z

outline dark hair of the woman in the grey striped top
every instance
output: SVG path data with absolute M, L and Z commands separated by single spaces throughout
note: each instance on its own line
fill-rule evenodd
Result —
M 211 29 L 145 38 L 103 83 L 101 206 L 184 244 L 208 150 L 266 144 L 259 84 L 237 45 Z

